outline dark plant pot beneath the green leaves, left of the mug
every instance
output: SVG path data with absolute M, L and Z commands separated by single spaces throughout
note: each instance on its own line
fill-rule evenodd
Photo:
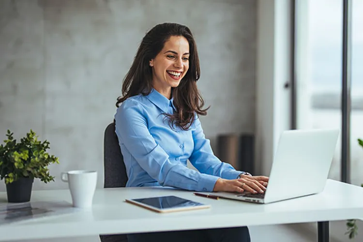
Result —
M 22 177 L 6 184 L 8 202 L 29 202 L 34 178 Z

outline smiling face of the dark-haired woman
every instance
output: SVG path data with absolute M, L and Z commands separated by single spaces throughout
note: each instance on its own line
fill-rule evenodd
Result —
M 179 86 L 189 69 L 189 43 L 183 36 L 171 36 L 160 53 L 150 61 L 152 85 L 168 92 Z

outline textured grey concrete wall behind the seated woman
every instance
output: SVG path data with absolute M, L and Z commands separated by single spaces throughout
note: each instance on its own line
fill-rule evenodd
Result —
M 198 82 L 215 145 L 219 133 L 255 130 L 255 0 L 0 0 L 0 140 L 33 129 L 60 158 L 59 175 L 96 169 L 103 185 L 103 132 L 121 81 L 147 30 L 188 25 L 201 62 Z M 0 191 L 4 191 L 3 181 Z

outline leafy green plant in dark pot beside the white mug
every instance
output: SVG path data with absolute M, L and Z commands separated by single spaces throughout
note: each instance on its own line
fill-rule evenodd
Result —
M 46 152 L 49 142 L 39 141 L 32 130 L 20 142 L 13 135 L 8 130 L 7 140 L 0 144 L 0 180 L 5 179 L 8 202 L 29 202 L 34 178 L 54 181 L 47 166 L 59 161 Z

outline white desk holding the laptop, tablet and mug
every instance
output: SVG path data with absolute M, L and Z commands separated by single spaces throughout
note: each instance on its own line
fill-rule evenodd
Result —
M 212 205 L 211 209 L 159 214 L 124 202 L 125 198 L 176 195 Z M 66 200 L 68 190 L 34 191 L 31 201 Z M 6 193 L 0 193 L 6 202 Z M 82 212 L 0 226 L 0 241 L 98 234 L 256 226 L 345 220 L 363 217 L 363 188 L 328 180 L 324 192 L 262 205 L 197 197 L 169 188 L 112 188 L 96 190 L 93 208 Z M 328 226 L 328 227 L 327 227 Z M 320 224 L 319 241 L 329 240 L 329 224 Z M 327 229 L 327 230 L 326 230 Z

